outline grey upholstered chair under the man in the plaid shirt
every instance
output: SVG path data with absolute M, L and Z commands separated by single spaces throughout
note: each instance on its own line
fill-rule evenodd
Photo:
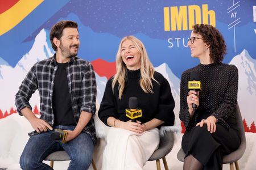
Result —
M 53 162 L 54 161 L 65 161 L 65 160 L 70 160 L 68 154 L 66 151 L 56 151 L 51 154 L 49 154 L 46 159 L 44 160 L 49 160 L 50 161 L 50 167 L 53 168 Z M 92 166 L 93 170 L 97 170 L 96 165 L 94 161 L 92 160 Z

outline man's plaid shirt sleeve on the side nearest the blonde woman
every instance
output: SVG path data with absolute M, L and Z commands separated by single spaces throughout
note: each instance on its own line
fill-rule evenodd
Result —
M 93 70 L 93 66 L 89 63 L 86 66 L 86 71 L 84 77 L 82 78 L 82 87 L 81 87 L 81 94 L 82 94 L 82 106 L 80 109 L 81 111 L 92 113 L 93 116 L 96 112 L 96 94 L 97 94 L 97 87 L 96 87 L 96 78 Z

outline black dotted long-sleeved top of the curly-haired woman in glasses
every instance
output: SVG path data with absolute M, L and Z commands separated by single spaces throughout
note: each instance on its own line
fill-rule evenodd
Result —
M 193 117 L 188 113 L 188 81 L 191 71 L 198 71 L 201 88 L 199 94 L 199 107 Z M 180 82 L 180 120 L 183 121 L 186 130 L 191 130 L 198 122 L 199 114 L 210 113 L 217 118 L 218 124 L 226 129 L 230 126 L 226 122 L 228 117 L 236 118 L 233 110 L 237 104 L 238 70 L 234 65 L 224 63 L 199 64 L 188 69 L 181 75 Z

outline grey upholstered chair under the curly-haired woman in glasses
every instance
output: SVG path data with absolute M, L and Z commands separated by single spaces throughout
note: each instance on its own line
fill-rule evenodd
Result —
M 245 129 L 243 128 L 243 120 L 242 120 L 242 116 L 241 116 L 241 112 L 238 104 L 234 112 L 236 112 L 236 116 L 237 116 L 237 125 L 240 130 L 241 144 L 236 151 L 230 153 L 229 155 L 225 155 L 223 157 L 223 164 L 229 163 L 230 170 L 233 170 L 234 169 L 233 163 L 235 163 L 236 169 L 239 170 L 240 168 L 238 165 L 238 160 L 243 156 L 243 153 L 245 152 L 246 138 L 245 138 Z M 179 152 L 177 153 L 177 159 L 179 159 L 181 162 L 184 162 L 184 156 L 185 156 L 185 153 L 182 150 L 182 148 L 180 148 Z

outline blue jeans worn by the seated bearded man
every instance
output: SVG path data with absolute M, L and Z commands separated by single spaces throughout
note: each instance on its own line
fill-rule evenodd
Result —
M 74 130 L 75 126 L 54 126 L 63 130 Z M 28 139 L 22 155 L 20 156 L 20 168 L 22 169 L 52 169 L 43 163 L 43 160 L 52 152 L 65 150 L 71 162 L 68 169 L 88 169 L 92 163 L 93 141 L 84 132 L 68 143 L 53 141 L 50 138 L 52 131 L 33 135 Z

